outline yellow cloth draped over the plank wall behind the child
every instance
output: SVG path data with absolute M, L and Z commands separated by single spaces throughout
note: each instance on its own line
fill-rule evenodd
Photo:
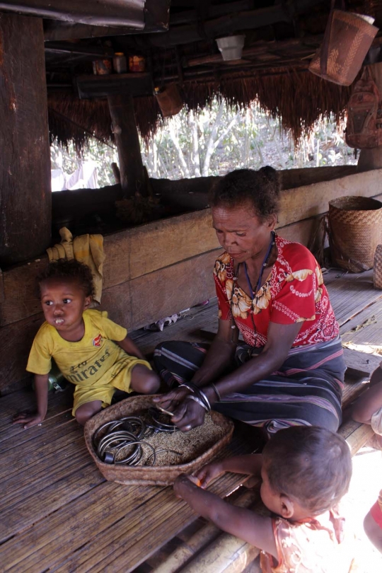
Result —
M 93 299 L 100 303 L 102 294 L 103 261 L 103 236 L 81 235 L 74 238 L 69 228 L 62 227 L 59 230 L 62 238 L 61 243 L 47 248 L 50 262 L 59 259 L 76 259 L 90 267 L 94 280 L 95 294 Z

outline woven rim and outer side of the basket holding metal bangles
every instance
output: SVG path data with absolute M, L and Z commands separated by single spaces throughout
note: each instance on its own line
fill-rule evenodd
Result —
M 86 446 L 88 451 L 91 453 L 91 457 L 96 462 L 100 473 L 103 474 L 106 480 L 122 483 L 124 485 L 140 485 L 142 483 L 145 485 L 171 485 L 180 473 L 192 473 L 195 470 L 202 468 L 203 465 L 211 461 L 212 458 L 214 458 L 231 440 L 233 434 L 232 420 L 219 414 L 219 412 L 211 412 L 211 417 L 214 423 L 223 427 L 225 433 L 224 436 L 216 442 L 216 444 L 208 448 L 207 451 L 205 451 L 201 456 L 195 458 L 195 460 L 179 465 L 161 466 L 124 466 L 104 463 L 101 461 L 93 446 L 93 434 L 96 432 L 98 427 L 113 419 L 132 416 L 136 412 L 147 410 L 147 408 L 153 405 L 153 398 L 153 396 L 147 395 L 127 398 L 126 400 L 122 400 L 122 402 L 105 408 L 105 410 L 86 422 L 84 430 Z M 190 435 L 191 432 L 188 432 L 187 435 Z

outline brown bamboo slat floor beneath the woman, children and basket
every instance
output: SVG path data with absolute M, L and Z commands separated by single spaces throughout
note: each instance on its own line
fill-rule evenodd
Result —
M 345 351 L 349 364 L 346 410 L 382 359 L 375 355 L 378 342 L 382 347 L 382 291 L 374 289 L 372 271 L 346 274 L 330 270 L 324 279 L 344 341 L 355 345 Z M 212 300 L 207 306 L 185 311 L 163 332 L 141 329 L 131 335 L 149 354 L 163 340 L 211 340 L 215 323 L 216 300 Z M 367 354 L 370 345 L 374 354 Z M 11 425 L 11 417 L 32 407 L 33 392 L 17 390 L 0 398 L 1 572 L 185 573 L 195 569 L 195 554 L 200 550 L 208 553 L 212 546 L 218 548 L 215 553 L 225 564 L 230 562 L 231 557 L 219 549 L 223 542 L 225 550 L 231 547 L 229 551 L 239 557 L 246 551 L 242 566 L 237 560 L 231 568 L 218 567 L 216 560 L 207 566 L 204 560 L 199 571 L 233 572 L 248 567 L 248 555 L 253 559 L 257 550 L 250 553 L 243 543 L 229 545 L 230 536 L 222 536 L 197 518 L 175 498 L 171 487 L 105 481 L 88 454 L 83 430 L 71 417 L 71 403 L 70 388 L 51 393 L 42 426 L 24 430 Z M 253 451 L 251 432 L 248 427 L 243 432 L 238 424 L 222 455 Z M 369 427 L 349 421 L 346 415 L 340 432 L 354 452 L 370 435 Z M 214 490 L 221 496 L 233 492 L 239 503 L 243 497 L 243 503 L 252 503 L 252 498 L 245 497 L 252 494 L 243 494 L 240 482 L 238 476 L 225 475 L 215 482 Z

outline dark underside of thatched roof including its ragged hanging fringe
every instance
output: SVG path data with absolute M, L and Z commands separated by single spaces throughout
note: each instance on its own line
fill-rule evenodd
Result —
M 211 0 L 204 11 L 192 11 L 187 4 L 195 8 L 191 1 L 171 1 L 165 33 L 71 39 L 64 47 L 62 41 L 47 41 L 51 139 L 63 145 L 74 141 L 78 151 L 92 135 L 112 140 L 107 100 L 79 99 L 72 87 L 81 74 L 91 78 L 94 57 L 110 57 L 110 51 L 143 54 L 152 85 L 177 83 L 190 110 L 204 108 L 213 98 L 224 98 L 228 105 L 241 108 L 257 100 L 263 110 L 279 118 L 295 142 L 320 117 L 332 114 L 335 120 L 342 119 L 351 88 L 323 81 L 308 71 L 323 40 L 328 1 L 290 0 L 285 5 L 289 13 L 284 4 L 272 0 L 264 0 L 262 8 L 255 8 L 257 3 L 249 0 Z M 382 28 L 382 0 L 349 0 L 347 9 L 371 14 Z M 217 49 L 215 38 L 226 28 L 231 34 L 245 34 L 240 60 L 224 62 Z M 56 27 L 46 37 L 62 40 L 57 34 L 64 33 L 66 29 Z M 381 37 L 375 42 L 379 46 Z M 92 50 L 100 55 L 92 58 Z M 144 93 L 134 103 L 139 132 L 147 141 L 163 117 L 156 98 Z

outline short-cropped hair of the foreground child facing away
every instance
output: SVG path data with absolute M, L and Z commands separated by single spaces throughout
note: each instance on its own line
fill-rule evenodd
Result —
M 274 434 L 262 452 L 274 492 L 294 497 L 312 515 L 335 507 L 349 489 L 352 456 L 345 439 L 319 427 Z

